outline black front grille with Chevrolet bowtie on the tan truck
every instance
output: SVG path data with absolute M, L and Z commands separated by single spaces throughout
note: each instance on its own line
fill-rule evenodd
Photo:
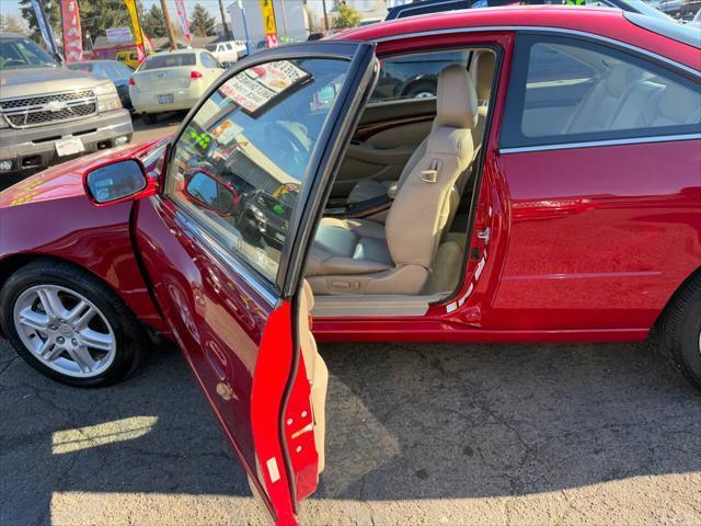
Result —
M 92 90 L 24 96 L 0 100 L 0 112 L 13 128 L 28 128 L 94 115 L 97 99 Z

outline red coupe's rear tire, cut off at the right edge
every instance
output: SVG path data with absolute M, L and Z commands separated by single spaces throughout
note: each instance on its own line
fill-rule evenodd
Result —
M 674 366 L 701 390 L 701 274 L 676 294 L 660 332 Z

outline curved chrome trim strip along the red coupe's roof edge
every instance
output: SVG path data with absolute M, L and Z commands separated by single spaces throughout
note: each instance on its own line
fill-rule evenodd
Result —
M 422 31 L 422 32 L 409 33 L 409 34 L 402 34 L 402 35 L 383 36 L 381 38 L 376 38 L 372 42 L 381 43 L 381 42 L 400 41 L 404 38 L 416 38 L 416 37 L 429 36 L 429 35 L 445 35 L 445 34 L 456 34 L 456 33 L 482 33 L 485 31 L 521 31 L 521 32 L 554 33 L 559 35 L 564 34 L 570 36 L 573 36 L 573 35 L 584 36 L 593 41 L 605 42 L 607 44 L 612 44 L 614 46 L 622 47 L 631 52 L 645 55 L 647 57 L 652 57 L 658 61 L 669 64 L 675 68 L 681 69 L 687 73 L 692 75 L 697 79 L 701 79 L 701 71 L 698 71 L 689 66 L 686 66 L 681 62 L 673 60 L 671 58 L 665 57 L 663 55 L 658 55 L 648 49 L 633 46 L 632 44 L 628 44 L 622 41 L 617 41 L 616 38 L 609 38 L 608 36 L 601 36 L 595 33 L 588 33 L 586 31 L 566 30 L 563 27 L 547 27 L 547 26 L 539 26 L 539 25 L 482 25 L 482 26 L 475 26 L 475 27 L 452 27 L 452 28 L 446 28 L 446 30 Z

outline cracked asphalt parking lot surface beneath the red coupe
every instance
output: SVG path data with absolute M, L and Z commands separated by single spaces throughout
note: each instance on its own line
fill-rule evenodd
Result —
M 303 524 L 701 523 L 701 397 L 645 345 L 322 344 Z M 0 343 L 0 524 L 267 524 L 174 348 L 117 386 Z

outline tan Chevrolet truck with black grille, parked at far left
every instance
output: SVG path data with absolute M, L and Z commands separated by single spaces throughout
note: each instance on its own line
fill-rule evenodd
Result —
M 111 80 L 60 66 L 24 36 L 0 33 L 0 173 L 131 140 Z

